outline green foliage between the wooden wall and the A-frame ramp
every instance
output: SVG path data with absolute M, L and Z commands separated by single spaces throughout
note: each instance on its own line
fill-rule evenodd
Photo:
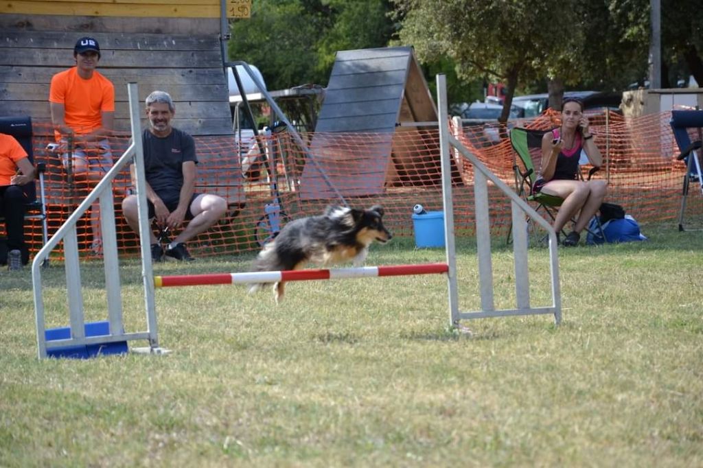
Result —
M 256 1 L 231 23 L 231 60 L 256 65 L 269 89 L 325 85 L 337 51 L 383 47 L 393 33 L 385 0 Z

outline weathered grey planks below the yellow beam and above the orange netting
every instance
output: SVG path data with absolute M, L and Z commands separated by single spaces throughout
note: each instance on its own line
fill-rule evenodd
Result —
M 115 4 L 122 5 L 119 0 Z M 141 103 L 155 89 L 172 95 L 174 126 L 195 136 L 232 134 L 219 18 L 132 18 L 127 13 L 1 14 L 0 115 L 31 115 L 35 122 L 49 124 L 51 77 L 75 65 L 73 46 L 79 37 L 90 35 L 101 46 L 98 71 L 115 84 L 117 130 L 129 131 L 127 84 L 136 82 Z

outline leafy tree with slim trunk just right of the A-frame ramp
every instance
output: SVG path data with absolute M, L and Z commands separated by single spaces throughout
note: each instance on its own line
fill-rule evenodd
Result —
M 574 63 L 583 33 L 573 24 L 575 2 L 543 0 L 395 0 L 401 41 L 413 44 L 421 61 L 448 56 L 466 80 L 496 77 L 508 86 L 499 120 L 508 119 L 520 82 L 558 74 L 578 79 Z

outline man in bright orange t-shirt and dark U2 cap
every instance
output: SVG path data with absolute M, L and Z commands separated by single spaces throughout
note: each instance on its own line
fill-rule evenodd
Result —
M 94 185 L 112 166 L 108 136 L 115 122 L 115 86 L 96 70 L 100 46 L 92 37 L 73 48 L 76 66 L 51 78 L 49 103 L 58 151 L 65 167 L 71 155 L 72 174 Z M 99 204 L 93 204 L 93 253 L 102 252 Z

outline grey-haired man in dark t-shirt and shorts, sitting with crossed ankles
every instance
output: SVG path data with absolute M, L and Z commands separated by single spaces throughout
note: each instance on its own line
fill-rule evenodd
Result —
M 142 138 L 149 219 L 156 218 L 162 230 L 178 228 L 183 221 L 189 221 L 167 245 L 166 252 L 150 232 L 153 261 L 161 261 L 164 254 L 176 260 L 193 260 L 186 242 L 207 230 L 227 211 L 224 198 L 195 193 L 195 164 L 198 164 L 195 143 L 192 136 L 171 126 L 175 112 L 171 96 L 164 91 L 154 91 L 146 98 L 150 126 L 143 131 Z M 134 164 L 131 171 L 135 180 Z M 139 232 L 136 195 L 124 199 L 122 212 L 127 224 Z

